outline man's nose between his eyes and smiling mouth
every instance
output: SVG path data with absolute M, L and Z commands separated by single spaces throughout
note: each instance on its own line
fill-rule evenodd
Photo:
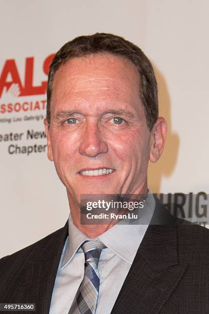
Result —
M 108 152 L 108 145 L 103 139 L 102 132 L 97 123 L 88 123 L 82 133 L 78 151 L 81 155 L 95 157 Z

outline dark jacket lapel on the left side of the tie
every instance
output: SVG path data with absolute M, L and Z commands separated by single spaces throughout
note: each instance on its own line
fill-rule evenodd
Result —
M 56 273 L 68 235 L 68 223 L 56 231 L 50 241 L 42 241 L 31 254 L 26 265 L 27 291 L 24 291 L 24 300 L 36 303 L 36 312 L 49 313 L 52 291 Z

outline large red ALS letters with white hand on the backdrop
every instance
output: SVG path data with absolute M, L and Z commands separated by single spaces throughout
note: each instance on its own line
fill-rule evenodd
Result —
M 54 55 L 55 54 L 50 54 L 43 62 L 43 71 L 47 76 L 49 74 L 49 67 Z M 41 82 L 39 86 L 34 86 L 33 72 L 34 57 L 26 58 L 24 82 L 20 80 L 15 60 L 6 60 L 0 76 L 0 98 L 3 96 L 5 91 L 7 93 L 9 92 L 13 96 L 31 96 L 45 94 L 47 89 L 47 80 Z

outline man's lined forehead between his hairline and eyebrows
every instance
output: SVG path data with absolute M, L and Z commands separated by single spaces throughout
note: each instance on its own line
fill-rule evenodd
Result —
M 112 54 L 72 58 L 54 75 L 51 104 L 70 100 L 138 103 L 139 73 L 129 60 Z

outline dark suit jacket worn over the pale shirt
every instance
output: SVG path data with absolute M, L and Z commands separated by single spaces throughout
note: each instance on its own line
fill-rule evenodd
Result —
M 209 230 L 185 225 L 159 202 L 152 223 L 158 225 L 148 227 L 111 313 L 209 313 Z M 67 235 L 66 223 L 0 260 L 1 303 L 36 303 L 36 313 L 49 313 Z

